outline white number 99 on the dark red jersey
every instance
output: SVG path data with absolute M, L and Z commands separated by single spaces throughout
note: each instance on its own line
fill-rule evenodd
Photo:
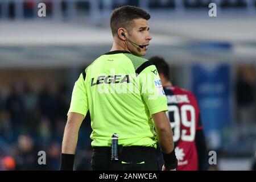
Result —
M 181 140 L 191 142 L 195 139 L 196 134 L 196 112 L 192 105 L 183 105 L 180 107 L 181 114 L 179 113 L 179 107 L 176 105 L 168 106 L 167 117 L 169 118 L 169 113 L 174 113 L 174 121 L 171 121 L 171 126 L 174 129 L 174 142 L 177 142 L 181 137 Z M 188 121 L 187 112 L 191 114 L 191 119 Z M 180 118 L 181 115 L 181 118 Z M 170 119 L 170 118 L 169 118 Z M 189 127 L 190 134 L 187 135 L 187 130 L 181 130 L 180 136 L 180 124 L 185 127 Z

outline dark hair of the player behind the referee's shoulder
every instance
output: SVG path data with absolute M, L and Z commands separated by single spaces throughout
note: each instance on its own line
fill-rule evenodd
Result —
M 158 69 L 158 73 L 163 73 L 164 77 L 170 79 L 169 65 L 163 59 L 163 57 L 154 56 L 149 59 L 152 64 Z

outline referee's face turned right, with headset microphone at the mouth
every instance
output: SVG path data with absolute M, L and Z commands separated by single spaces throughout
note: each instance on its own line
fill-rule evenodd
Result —
M 150 40 L 152 36 L 148 32 L 148 21 L 146 19 L 134 19 L 133 20 L 133 29 L 131 31 L 130 39 L 141 46 L 143 48 L 139 48 L 138 46 L 134 46 L 131 43 L 128 44 L 128 48 L 131 53 L 137 56 L 144 56 L 146 55 L 146 51 L 148 45 L 150 44 Z

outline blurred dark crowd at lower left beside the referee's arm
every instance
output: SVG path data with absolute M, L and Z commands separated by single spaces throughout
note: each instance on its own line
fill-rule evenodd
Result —
M 67 95 L 65 85 L 54 89 L 45 84 L 34 92 L 30 85 L 15 82 L 7 94 L 1 94 L 0 89 L 0 171 L 59 169 L 70 100 Z M 88 121 L 81 126 L 76 169 L 90 169 Z M 38 164 L 39 151 L 46 152 L 46 165 Z

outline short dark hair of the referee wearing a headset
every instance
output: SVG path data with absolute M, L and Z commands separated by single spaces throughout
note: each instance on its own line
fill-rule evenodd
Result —
M 129 28 L 132 26 L 133 19 L 139 18 L 148 20 L 150 19 L 150 14 L 139 7 L 129 5 L 114 9 L 110 18 L 112 35 L 116 35 L 120 27 L 126 28 L 129 31 Z

